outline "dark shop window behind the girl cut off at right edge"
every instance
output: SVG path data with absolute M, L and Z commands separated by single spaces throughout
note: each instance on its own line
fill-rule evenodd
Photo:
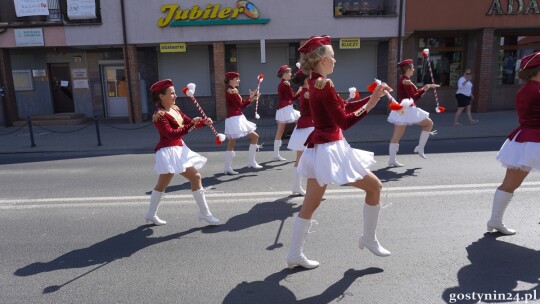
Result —
M 540 36 L 501 36 L 497 57 L 497 84 L 520 84 L 521 58 L 540 51 Z

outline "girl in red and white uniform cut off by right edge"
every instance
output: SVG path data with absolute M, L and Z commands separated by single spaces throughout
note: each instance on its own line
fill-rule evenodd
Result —
M 540 170 L 540 52 L 521 59 L 518 73 L 525 83 L 516 95 L 519 126 L 508 135 L 497 160 L 506 167 L 502 184 L 495 191 L 488 231 L 502 234 L 516 231 L 503 224 L 503 215 L 514 191 L 533 170 Z

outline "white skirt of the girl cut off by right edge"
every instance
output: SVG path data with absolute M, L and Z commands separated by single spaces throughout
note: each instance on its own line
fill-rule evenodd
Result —
M 516 136 L 506 139 L 497 154 L 497 160 L 508 169 L 527 172 L 540 170 L 540 143 L 515 142 Z

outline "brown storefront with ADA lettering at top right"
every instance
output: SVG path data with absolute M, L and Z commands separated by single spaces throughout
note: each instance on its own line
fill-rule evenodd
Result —
M 519 61 L 540 50 L 540 7 L 537 0 L 407 1 L 404 57 L 416 61 L 416 82 L 431 82 L 421 56 L 430 49 L 439 99 L 457 107 L 457 80 L 465 69 L 473 74 L 473 109 L 514 109 L 521 82 Z

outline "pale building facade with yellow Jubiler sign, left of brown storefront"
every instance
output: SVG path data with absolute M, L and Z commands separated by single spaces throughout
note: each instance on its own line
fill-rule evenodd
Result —
M 21 3 L 40 2 L 49 15 L 21 17 L 17 11 Z M 150 85 L 163 78 L 171 78 L 177 92 L 195 83 L 206 113 L 223 119 L 224 74 L 232 70 L 241 74 L 242 95 L 264 74 L 258 112 L 273 117 L 276 72 L 284 64 L 296 70 L 297 49 L 312 35 L 333 38 L 337 64 L 330 77 L 339 92 L 354 86 L 366 95 L 374 77 L 395 82 L 388 75 L 396 73 L 396 0 L 0 3 L 7 8 L 0 13 L 0 119 L 6 126 L 71 112 L 140 122 L 154 110 Z M 87 15 L 73 16 L 75 4 L 86 5 L 76 11 Z M 177 103 L 198 115 L 190 99 L 179 96 Z

